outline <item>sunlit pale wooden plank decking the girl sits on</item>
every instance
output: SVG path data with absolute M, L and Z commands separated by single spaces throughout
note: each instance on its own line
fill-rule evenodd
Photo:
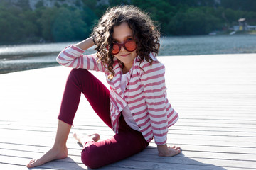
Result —
M 256 54 L 159 57 L 168 98 L 180 115 L 169 128 L 176 157 L 158 157 L 154 141 L 143 152 L 102 169 L 256 169 Z M 70 69 L 50 67 L 0 75 L 0 169 L 27 169 L 55 139 Z M 94 72 L 105 82 L 104 75 Z M 82 96 L 72 132 L 113 135 Z M 87 169 L 80 145 L 69 156 L 34 169 Z

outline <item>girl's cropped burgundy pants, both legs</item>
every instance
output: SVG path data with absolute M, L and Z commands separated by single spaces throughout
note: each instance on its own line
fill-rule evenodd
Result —
M 73 124 L 81 93 L 95 113 L 111 128 L 110 91 L 86 69 L 73 69 L 70 72 L 58 119 Z M 108 140 L 86 142 L 82 150 L 82 162 L 95 169 L 137 154 L 148 145 L 142 133 L 130 128 L 120 116 L 119 133 Z

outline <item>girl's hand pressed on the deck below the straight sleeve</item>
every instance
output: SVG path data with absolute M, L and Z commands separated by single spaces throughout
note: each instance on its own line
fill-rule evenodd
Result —
M 167 145 L 157 145 L 160 157 L 173 157 L 181 153 L 180 147 L 167 147 Z

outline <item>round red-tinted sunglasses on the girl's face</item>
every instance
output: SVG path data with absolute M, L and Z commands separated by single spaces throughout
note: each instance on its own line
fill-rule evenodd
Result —
M 113 43 L 113 47 L 111 50 L 112 55 L 117 55 L 120 52 L 121 47 L 124 47 L 124 49 L 129 52 L 133 52 L 134 50 L 136 50 L 137 44 L 134 40 L 127 40 L 127 42 L 124 42 L 122 44 Z M 107 50 L 109 50 L 108 45 L 106 48 Z

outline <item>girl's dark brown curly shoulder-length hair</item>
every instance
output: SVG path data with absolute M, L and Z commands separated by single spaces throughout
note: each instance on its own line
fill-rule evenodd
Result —
M 145 59 L 152 64 L 153 60 L 149 57 L 149 54 L 153 52 L 157 55 L 159 52 L 160 32 L 147 13 L 144 13 L 138 7 L 128 5 L 107 9 L 93 29 L 92 37 L 95 45 L 97 45 L 95 50 L 97 50 L 98 62 L 101 61 L 107 65 L 107 70 L 111 73 L 110 77 L 114 77 L 114 56 L 111 53 L 112 34 L 114 26 L 119 26 L 122 22 L 127 22 L 129 28 L 132 29 L 133 38 L 137 43 L 138 62 L 142 62 Z M 107 45 L 109 50 L 106 49 Z M 121 61 L 118 60 L 118 62 L 124 67 Z

